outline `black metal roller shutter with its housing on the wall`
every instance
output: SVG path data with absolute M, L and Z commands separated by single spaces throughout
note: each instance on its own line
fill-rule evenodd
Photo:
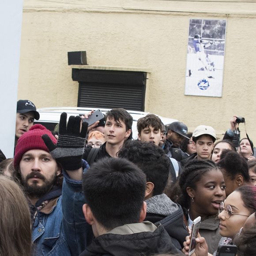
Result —
M 144 111 L 145 72 L 72 69 L 79 82 L 78 107 Z

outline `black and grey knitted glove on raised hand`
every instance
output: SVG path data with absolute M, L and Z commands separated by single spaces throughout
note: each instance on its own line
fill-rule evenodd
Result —
M 83 122 L 81 132 L 80 126 L 81 117 L 69 117 L 67 125 L 67 113 L 63 112 L 60 115 L 59 139 L 57 144 L 55 145 L 48 135 L 45 134 L 42 136 L 50 154 L 65 170 L 77 170 L 82 167 L 82 156 L 88 123 Z

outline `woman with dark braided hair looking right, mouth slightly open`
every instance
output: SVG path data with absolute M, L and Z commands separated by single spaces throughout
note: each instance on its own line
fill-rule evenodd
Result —
M 223 174 L 211 160 L 192 160 L 184 167 L 179 179 L 181 204 L 188 228 L 201 216 L 200 235 L 205 238 L 208 251 L 213 253 L 221 238 L 218 227 L 219 204 L 226 198 Z

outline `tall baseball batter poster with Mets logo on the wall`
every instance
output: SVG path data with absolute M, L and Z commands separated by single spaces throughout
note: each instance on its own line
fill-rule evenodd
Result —
M 190 19 L 185 95 L 222 97 L 226 20 Z

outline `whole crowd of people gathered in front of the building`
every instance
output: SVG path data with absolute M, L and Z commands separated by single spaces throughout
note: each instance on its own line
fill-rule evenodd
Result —
M 256 255 L 256 159 L 237 116 L 216 142 L 211 126 L 154 114 L 132 140 L 125 109 L 88 127 L 91 113 L 62 113 L 51 132 L 17 102 L 14 158 L 0 152 L 0 256 L 188 255 L 199 216 L 192 255 Z

